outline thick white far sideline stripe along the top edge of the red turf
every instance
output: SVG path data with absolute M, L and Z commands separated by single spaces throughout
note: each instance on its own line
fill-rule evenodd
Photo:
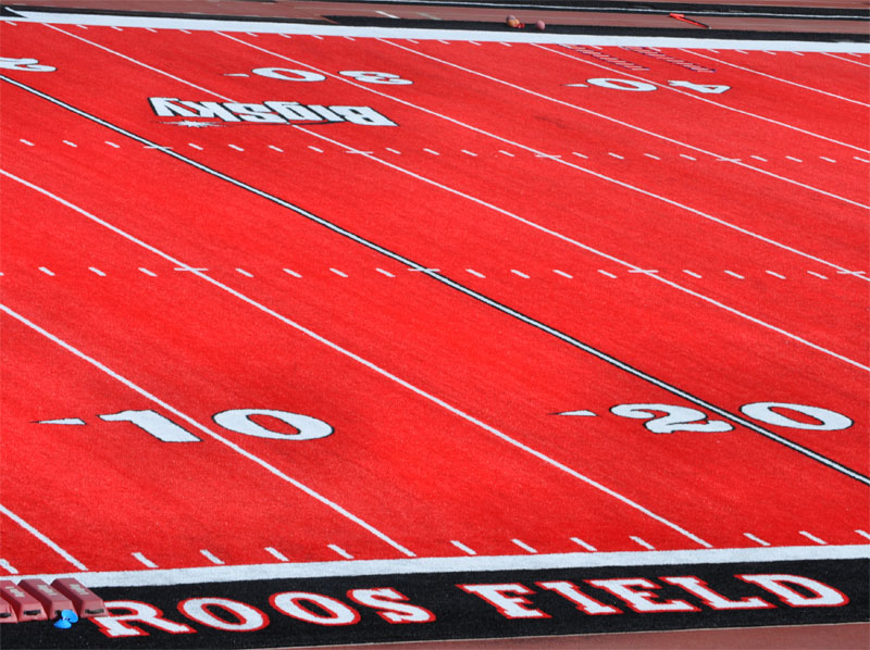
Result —
M 199 18 L 154 18 L 92 14 L 32 12 L 22 10 L 17 23 L 53 23 L 57 25 L 102 25 L 157 29 L 190 29 L 195 32 L 253 32 L 256 34 L 296 34 L 318 36 L 351 36 L 355 38 L 418 38 L 421 40 L 544 42 L 597 46 L 638 46 L 654 48 L 716 48 L 720 50 L 776 50 L 799 52 L 870 53 L 870 45 L 853 42 L 816 42 L 799 40 L 754 40 L 707 38 L 661 38 L 641 36 L 592 36 L 522 32 L 472 32 L 467 29 L 409 29 L 397 27 L 343 27 L 301 23 L 269 23 L 245 21 L 213 21 Z M 3 18 L 8 21 L 9 18 Z M 2 21 L 0 21 L 2 22 Z M 10 21 L 11 22 L 11 21 Z

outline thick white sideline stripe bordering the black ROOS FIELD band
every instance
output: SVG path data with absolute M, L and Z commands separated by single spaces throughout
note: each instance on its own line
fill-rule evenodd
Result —
M 575 538 L 572 538 L 575 540 Z M 582 546 L 582 545 L 581 545 Z M 352 562 L 298 562 L 196 566 L 158 571 L 107 571 L 67 574 L 34 574 L 51 583 L 57 577 L 74 577 L 85 586 L 158 587 L 194 583 L 229 583 L 285 578 L 352 577 L 368 575 L 412 575 L 419 573 L 460 573 L 467 571 L 529 571 L 542 568 L 593 568 L 601 566 L 657 566 L 681 564 L 730 564 L 744 562 L 788 562 L 801 560 L 863 560 L 870 545 L 799 546 L 743 549 L 694 549 L 682 551 L 619 551 L 477 555 L 474 558 L 414 558 L 402 560 L 356 560 Z

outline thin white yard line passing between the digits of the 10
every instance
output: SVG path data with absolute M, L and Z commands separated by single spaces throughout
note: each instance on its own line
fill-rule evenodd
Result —
M 110 227 L 111 227 L 111 226 L 110 226 Z M 138 242 L 138 241 L 137 241 L 137 242 Z M 203 275 L 202 275 L 200 272 L 198 272 L 198 271 L 195 271 L 194 273 L 195 273 L 196 275 L 200 276 L 200 277 L 206 277 L 206 276 L 203 276 Z M 216 283 L 215 283 L 215 284 L 216 284 Z M 375 527 L 373 527 L 372 525 L 370 525 L 370 524 L 365 523 L 364 521 L 362 521 L 362 520 L 361 520 L 360 517 L 358 517 L 357 515 L 355 515 L 355 514 L 352 514 L 352 513 L 348 512 L 347 510 L 345 510 L 344 508 L 341 508 L 341 507 L 340 507 L 340 505 L 338 505 L 337 503 L 335 503 L 335 502 L 333 502 L 333 501 L 328 500 L 326 497 L 324 497 L 324 496 L 320 495 L 319 492 L 314 491 L 313 489 L 311 489 L 311 488 L 310 488 L 310 487 L 308 487 L 307 485 L 303 485 L 302 483 L 300 483 L 300 482 L 296 480 L 295 478 L 293 478 L 293 477 L 288 476 L 287 474 L 284 474 L 284 473 L 283 473 L 281 470 L 278 470 L 277 467 L 274 467 L 273 465 L 269 464 L 266 461 L 262 460 L 261 458 L 259 458 L 259 457 L 254 455 L 253 453 L 251 453 L 251 452 L 249 452 L 249 451 L 247 451 L 247 450 L 243 449 L 241 447 L 239 447 L 239 446 L 238 446 L 238 445 L 236 445 L 235 442 L 232 442 L 232 441 L 227 440 L 226 438 L 223 438 L 222 436 L 219 436 L 217 434 L 215 434 L 214 432 L 210 430 L 210 429 L 209 429 L 209 428 L 207 428 L 206 426 L 203 426 L 203 425 L 199 424 L 199 423 L 198 423 L 196 420 L 194 420 L 194 418 L 192 418 L 192 417 L 190 417 L 189 415 L 187 415 L 187 414 L 185 414 L 185 413 L 183 413 L 183 412 L 178 411 L 177 409 L 175 409 L 175 408 L 171 407 L 170 404 L 167 404 L 166 402 L 164 402 L 164 401 L 163 401 L 163 400 L 161 400 L 160 398 L 158 398 L 158 397 L 156 397 L 156 396 L 151 395 L 150 392 L 148 392 L 148 391 L 147 391 L 147 390 L 145 390 L 144 388 L 140 388 L 139 386 L 137 386 L 136 384 L 134 384 L 133 382 L 130 382 L 129 379 L 127 379 L 126 377 L 123 377 L 123 376 L 119 375 L 119 374 L 117 374 L 117 373 L 115 373 L 113 370 L 111 370 L 110 367 L 108 367 L 108 366 L 103 365 L 102 363 L 100 363 L 100 362 L 99 362 L 99 361 L 97 361 L 96 359 L 92 359 L 92 358 L 88 357 L 87 354 L 85 354 L 84 352 L 82 352 L 82 351 L 80 351 L 80 350 L 78 350 L 77 348 L 75 348 L 75 347 L 71 346 L 71 345 L 70 345 L 70 343 L 67 343 L 66 341 L 64 341 L 64 340 L 61 340 L 60 338 L 55 337 L 53 334 L 51 334 L 51 333 L 49 333 L 49 332 L 47 332 L 47 330 L 42 329 L 41 327 L 39 327 L 39 326 L 38 326 L 38 325 L 36 325 L 35 323 L 32 323 L 30 321 L 28 321 L 27 318 L 25 318 L 24 316 L 22 316 L 22 315 L 21 315 L 21 314 L 18 314 L 17 312 L 14 312 L 14 311 L 12 311 L 12 310 L 11 310 L 10 308 L 8 308 L 7 305 L 4 305 L 4 304 L 0 304 L 0 311 L 3 311 L 3 312 L 5 312 L 8 315 L 10 315 L 10 316 L 12 316 L 13 318 L 15 318 L 15 320 L 20 321 L 21 323 L 23 323 L 23 324 L 27 325 L 28 327 L 30 327 L 30 328 L 32 328 L 32 329 L 34 329 L 35 332 L 38 332 L 39 334 L 41 334 L 42 336 L 45 336 L 45 337 L 46 337 L 46 338 L 48 338 L 49 340 L 51 340 L 51 341 L 55 342 L 57 345 L 59 345 L 60 347 L 64 348 L 64 349 L 65 349 L 65 350 L 67 350 L 69 352 L 72 352 L 73 354 L 75 354 L 76 357 L 78 357 L 79 359 L 82 359 L 83 361 L 86 361 L 86 362 L 88 362 L 89 364 L 91 364 L 91 365 L 92 365 L 92 366 L 95 366 L 96 368 L 98 368 L 98 370 L 102 371 L 103 373 L 105 373 L 107 375 L 109 375 L 110 377 L 112 377 L 113 379 L 115 379 L 115 380 L 120 382 L 121 384 L 123 384 L 123 385 L 124 385 L 124 386 L 126 386 L 127 388 L 129 388 L 129 389 L 132 389 L 132 390 L 135 390 L 136 392 L 138 392 L 139 395 L 141 395 L 142 397 L 145 397 L 146 399 L 148 399 L 148 400 L 150 400 L 150 401 L 154 402 L 156 404 L 158 404 L 159 407 L 161 407 L 161 408 L 165 409 L 166 411 L 169 411 L 170 413 L 172 413 L 172 414 L 173 414 L 173 415 L 175 415 L 176 417 L 178 417 L 178 418 L 181 418 L 181 420 L 184 420 L 184 421 L 185 421 L 187 424 L 189 424 L 190 426 L 194 426 L 194 427 L 196 427 L 197 429 L 199 429 L 200 432 L 202 432 L 202 433 L 203 433 L 203 434 L 206 434 L 207 436 L 210 436 L 211 438 L 214 438 L 214 439 L 215 439 L 215 440 L 217 440 L 219 442 L 223 442 L 224 445 L 226 445 L 227 447 L 229 447 L 229 448 L 231 448 L 233 451 L 235 451 L 235 452 L 237 452 L 237 453 L 239 453 L 239 454 L 244 455 L 244 457 L 245 457 L 245 458 L 247 458 L 248 460 L 251 460 L 251 461 L 253 461 L 254 463 L 257 463 L 258 465 L 260 465 L 260 466 L 261 466 L 261 467 L 263 467 L 264 470 L 266 470 L 266 471 L 269 471 L 270 473 L 274 474 L 274 475 L 275 475 L 275 476 L 277 476 L 278 478 L 282 478 L 283 480 L 285 480 L 285 482 L 289 483 L 290 485 L 293 485 L 293 486 L 294 486 L 294 487 L 296 487 L 297 489 L 301 490 L 302 492 L 304 492 L 304 493 L 306 493 L 306 495 L 308 495 L 309 497 L 312 497 L 313 499 L 315 499 L 315 500 L 320 501 L 321 503 L 323 503 L 323 504 L 324 504 L 324 505 L 326 505 L 327 508 L 332 509 L 334 512 L 337 512 L 338 514 L 340 514 L 340 515 L 343 515 L 343 516 L 347 517 L 348 520 L 350 520 L 351 522 L 353 522 L 353 523 L 355 523 L 355 524 L 357 524 L 358 526 L 360 526 L 360 527 L 364 528 L 365 530 L 368 530 L 369 533 L 371 533 L 371 534 L 372 534 L 372 535 L 374 535 L 375 537 L 380 538 L 381 540 L 385 541 L 386 543 L 388 543 L 389 546 L 391 546 L 391 547 L 393 547 L 393 548 L 395 548 L 396 550 L 400 551 L 401 553 L 403 553 L 403 554 L 408 555 L 409 558 L 413 558 L 413 557 L 414 557 L 414 553 L 412 553 L 411 551 L 409 551 L 408 549 L 406 549 L 405 547 L 402 547 L 402 546 L 401 546 L 401 545 L 399 545 L 398 542 L 396 542 L 396 541 L 394 541 L 393 539 L 390 539 L 389 537 L 387 537 L 387 536 L 386 536 L 384 533 L 382 533 L 382 532 L 381 532 L 381 530 L 378 530 L 377 528 L 375 528 Z M 2 508 L 2 507 L 0 505 L 0 508 Z M 3 509 L 3 510 L 5 510 L 5 509 Z M 24 525 L 24 524 L 22 524 L 22 525 Z M 46 543 L 49 543 L 49 542 L 50 542 L 50 540 L 48 540 L 48 538 L 46 538 L 44 541 L 46 541 Z M 51 546 L 51 545 L 53 545 L 53 542 L 50 542 L 50 546 Z M 52 546 L 52 548 L 54 548 L 54 547 L 57 547 L 57 545 Z M 58 547 L 55 550 L 58 550 L 58 552 L 65 553 L 65 551 L 63 551 L 63 549 L 60 549 L 60 547 Z M 64 557 L 65 557 L 65 558 L 67 558 L 67 560 L 70 560 L 70 561 L 71 561 L 71 562 L 73 562 L 74 564 L 76 564 L 76 563 L 77 563 L 77 560 L 75 560 L 74 558 L 72 558 L 72 555 L 69 555 L 69 557 L 67 557 L 67 555 L 69 555 L 69 553 L 67 553 L 67 554 L 65 554 Z M 78 564 L 80 564 L 80 563 L 78 563 Z M 87 571 L 86 568 L 84 568 L 84 566 L 82 566 L 82 568 L 83 568 L 84 571 Z

